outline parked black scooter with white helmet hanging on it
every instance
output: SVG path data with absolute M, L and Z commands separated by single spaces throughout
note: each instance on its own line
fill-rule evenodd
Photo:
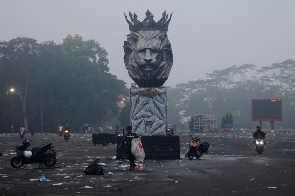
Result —
M 11 158 L 10 164 L 14 168 L 20 168 L 24 164 L 39 163 L 44 164 L 46 167 L 53 167 L 56 164 L 57 154 L 53 150 L 52 143 L 43 144 L 40 147 L 34 147 L 28 150 L 30 142 L 24 139 L 22 144 L 16 146 L 15 151 L 17 154 Z

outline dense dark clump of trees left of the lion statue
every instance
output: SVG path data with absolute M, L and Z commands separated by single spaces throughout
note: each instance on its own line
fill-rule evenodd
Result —
M 95 40 L 79 35 L 69 35 L 59 45 L 31 38 L 0 42 L 0 108 L 6 112 L 0 112 L 0 122 L 6 122 L 0 131 L 10 127 L 11 100 L 4 92 L 11 86 L 21 98 L 14 102 L 14 119 L 22 117 L 27 130 L 28 123 L 54 132 L 57 124 L 75 129 L 116 117 L 119 97 L 128 90 L 124 81 L 108 73 L 107 54 Z

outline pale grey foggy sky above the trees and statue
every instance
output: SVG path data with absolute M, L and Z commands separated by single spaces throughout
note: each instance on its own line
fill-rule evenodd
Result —
M 167 32 L 174 64 L 166 86 L 205 79 L 234 64 L 258 67 L 295 59 L 295 1 L 11 1 L 0 0 L 0 40 L 17 36 L 61 43 L 68 34 L 95 39 L 108 52 L 110 72 L 127 83 L 123 12 L 158 21 L 173 12 Z

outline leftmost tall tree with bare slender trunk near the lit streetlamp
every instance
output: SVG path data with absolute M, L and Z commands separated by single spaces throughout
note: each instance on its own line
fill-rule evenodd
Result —
M 10 41 L 0 42 L 1 69 L 7 76 L 6 83 L 16 86 L 22 101 L 22 112 L 25 129 L 27 122 L 27 96 L 30 82 L 36 72 L 38 58 L 38 44 L 35 39 L 18 37 Z

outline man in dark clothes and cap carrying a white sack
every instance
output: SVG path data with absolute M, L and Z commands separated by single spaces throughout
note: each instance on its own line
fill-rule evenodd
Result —
M 138 135 L 136 133 L 132 133 L 132 127 L 131 126 L 127 126 L 127 134 L 125 134 L 123 141 L 121 142 L 121 144 L 118 146 L 118 148 L 120 148 L 125 142 L 127 143 L 127 155 L 128 155 L 128 159 L 130 161 L 130 168 L 129 170 L 133 170 L 135 169 L 135 163 L 134 163 L 134 156 L 131 153 L 131 144 L 132 144 L 132 139 L 133 138 L 138 138 Z

